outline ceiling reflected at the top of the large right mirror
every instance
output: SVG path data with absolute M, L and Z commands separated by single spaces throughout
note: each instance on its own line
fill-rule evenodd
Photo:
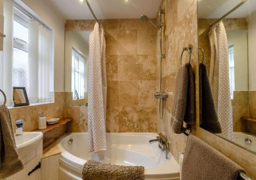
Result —
M 241 0 L 198 0 L 199 18 L 220 18 L 232 8 L 237 6 Z M 228 15 L 228 18 L 249 17 L 256 12 L 256 0 L 248 0 L 236 11 Z

